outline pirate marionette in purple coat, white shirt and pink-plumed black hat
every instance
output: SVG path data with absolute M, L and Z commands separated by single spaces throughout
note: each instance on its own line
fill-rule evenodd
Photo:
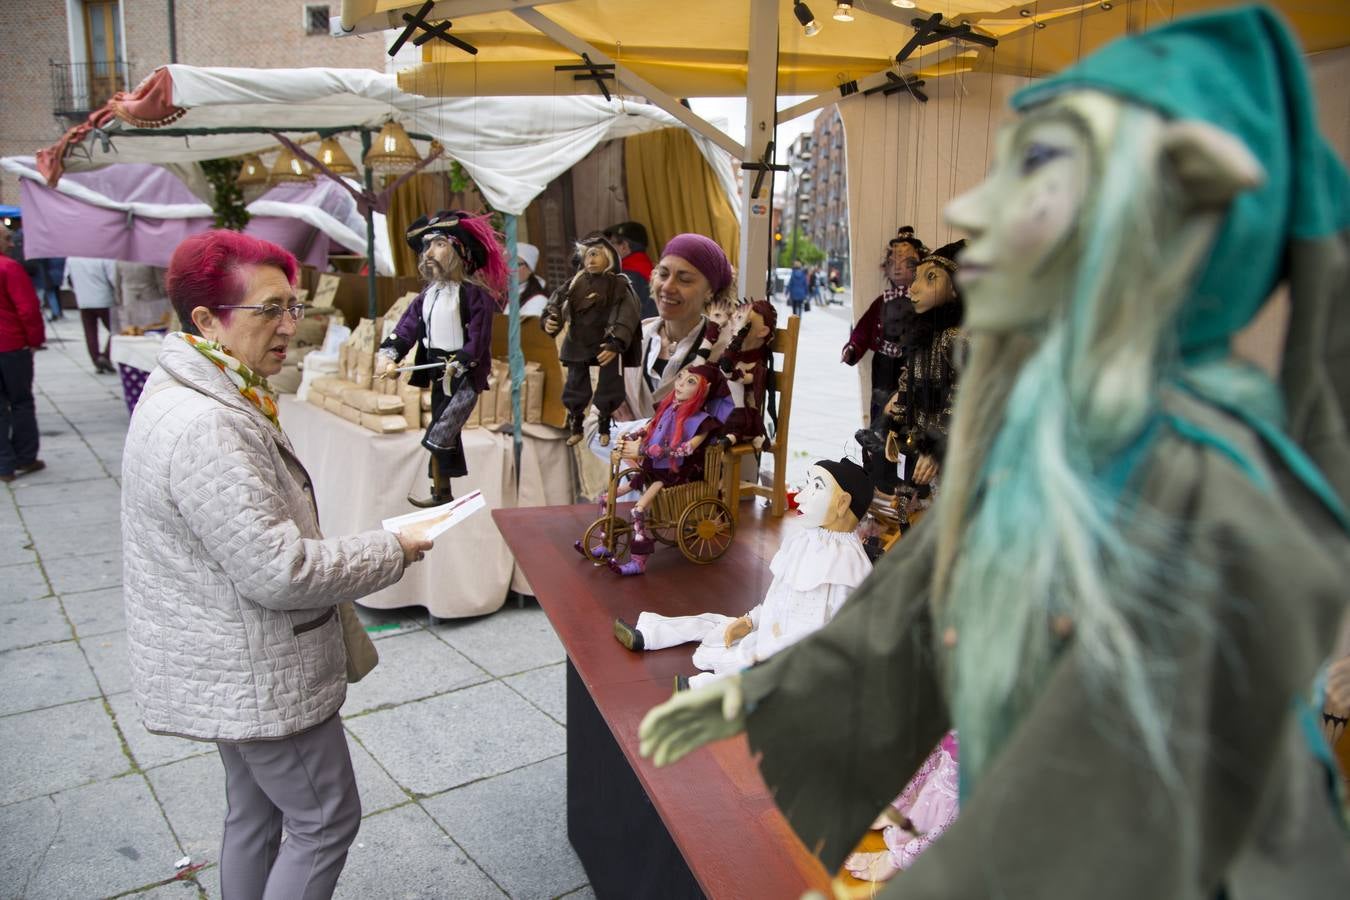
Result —
M 454 499 L 450 479 L 468 474 L 460 429 L 491 375 L 493 314 L 506 296 L 506 260 L 487 216 L 440 210 L 408 227 L 408 246 L 427 281 L 394 332 L 379 345 L 386 376 L 417 348 L 409 375 L 413 387 L 431 386 L 432 422 L 423 436 L 431 451 L 431 497 L 409 497 L 413 506 Z M 435 364 L 440 364 L 436 367 Z M 379 366 L 377 366 L 379 368 Z

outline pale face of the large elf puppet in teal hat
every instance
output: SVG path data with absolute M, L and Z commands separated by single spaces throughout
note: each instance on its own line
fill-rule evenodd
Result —
M 946 208 L 969 235 L 957 273 L 969 328 L 1017 328 L 1054 310 L 1091 170 L 1087 128 L 1066 108 L 1034 109 L 999 136 L 988 177 Z

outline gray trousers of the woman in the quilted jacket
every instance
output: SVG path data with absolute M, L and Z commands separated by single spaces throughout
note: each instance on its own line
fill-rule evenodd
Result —
M 342 719 L 289 738 L 216 748 L 225 764 L 223 900 L 331 897 L 360 828 Z

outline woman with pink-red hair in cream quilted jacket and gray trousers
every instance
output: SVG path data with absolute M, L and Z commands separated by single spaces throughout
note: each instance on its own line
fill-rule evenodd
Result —
M 132 691 L 146 729 L 220 752 L 231 899 L 332 895 L 360 826 L 339 607 L 431 548 L 320 533 L 267 383 L 304 312 L 294 281 L 294 256 L 246 235 L 178 246 L 167 287 L 184 331 L 165 339 L 123 456 Z

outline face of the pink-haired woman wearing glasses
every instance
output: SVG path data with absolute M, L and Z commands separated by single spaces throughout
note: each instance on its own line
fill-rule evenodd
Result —
M 269 378 L 281 371 L 296 335 L 296 320 L 285 309 L 296 305 L 296 289 L 275 266 L 242 266 L 238 277 L 244 291 L 234 305 L 265 309 L 197 306 L 192 320 L 202 337 L 220 343 L 235 359 Z

